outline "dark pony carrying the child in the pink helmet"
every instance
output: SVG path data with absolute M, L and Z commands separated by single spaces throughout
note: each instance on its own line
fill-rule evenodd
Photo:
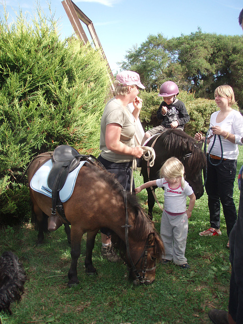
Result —
M 196 142 L 194 138 L 180 129 L 168 129 L 152 137 L 146 146 L 153 147 L 155 160 L 153 167 L 148 169 L 147 161 L 142 160 L 141 172 L 144 183 L 159 177 L 159 170 L 165 161 L 172 156 L 177 157 L 184 165 L 185 180 L 192 187 L 196 199 L 204 194 L 204 185 L 201 171 L 206 167 L 206 157 L 201 150 L 203 141 Z M 154 187 L 154 190 L 157 187 Z M 150 188 L 148 193 L 148 214 L 152 219 L 152 210 L 155 203 Z

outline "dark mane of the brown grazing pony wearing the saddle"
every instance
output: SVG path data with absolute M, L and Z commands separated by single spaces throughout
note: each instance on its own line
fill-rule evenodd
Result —
M 120 185 L 118 180 L 114 177 L 113 174 L 102 169 L 98 165 L 89 165 L 95 172 L 97 176 L 107 182 L 110 190 L 116 192 L 117 195 L 120 195 L 123 198 L 123 187 Z M 97 168 L 98 166 L 98 168 Z M 127 192 L 128 200 L 128 210 L 134 214 L 135 220 L 133 225 L 133 230 L 129 232 L 129 235 L 135 236 L 136 240 L 145 240 L 150 233 L 155 234 L 155 245 L 157 254 L 160 256 L 164 253 L 163 242 L 160 239 L 160 235 L 154 228 L 153 222 L 149 219 L 148 215 L 145 213 L 143 208 L 140 206 L 138 198 L 135 194 Z M 124 214 L 124 224 L 125 224 L 125 214 Z M 119 238 L 116 233 L 111 235 L 112 243 L 116 249 L 119 249 L 121 255 L 126 252 L 126 244 L 123 240 Z

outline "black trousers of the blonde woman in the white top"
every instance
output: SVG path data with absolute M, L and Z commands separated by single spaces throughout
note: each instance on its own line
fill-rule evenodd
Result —
M 220 228 L 221 202 L 227 227 L 227 235 L 229 236 L 237 219 L 233 200 L 237 160 L 223 160 L 218 166 L 215 165 L 219 163 L 219 160 L 210 160 L 213 165 L 207 161 L 207 181 L 205 184 L 208 194 L 210 224 L 213 228 Z

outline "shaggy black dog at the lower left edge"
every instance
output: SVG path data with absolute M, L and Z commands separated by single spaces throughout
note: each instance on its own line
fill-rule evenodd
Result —
M 12 314 L 10 304 L 21 300 L 26 279 L 18 257 L 12 252 L 4 252 L 0 257 L 0 311 Z

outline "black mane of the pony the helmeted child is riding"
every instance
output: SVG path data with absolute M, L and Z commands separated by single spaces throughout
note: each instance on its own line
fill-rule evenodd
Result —
M 206 157 L 197 141 L 180 129 L 168 129 L 161 134 L 166 148 L 171 152 L 172 156 L 182 158 L 187 153 L 191 153 L 188 157 L 187 165 L 191 169 L 192 174 L 206 166 Z

